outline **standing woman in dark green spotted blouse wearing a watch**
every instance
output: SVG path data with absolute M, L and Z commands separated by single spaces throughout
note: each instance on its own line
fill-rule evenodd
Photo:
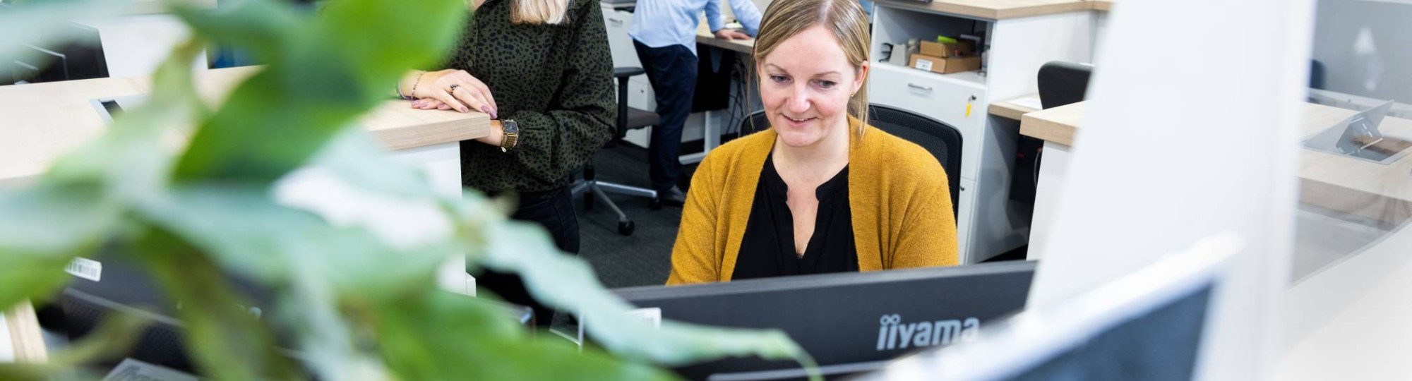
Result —
M 579 253 L 569 174 L 613 137 L 613 59 L 594 0 L 474 0 L 460 44 L 442 71 L 412 71 L 398 93 L 424 110 L 480 110 L 491 134 L 460 143 L 462 185 L 518 195 L 511 219 L 549 230 Z M 520 277 L 486 271 L 476 284 L 508 302 L 538 305 Z

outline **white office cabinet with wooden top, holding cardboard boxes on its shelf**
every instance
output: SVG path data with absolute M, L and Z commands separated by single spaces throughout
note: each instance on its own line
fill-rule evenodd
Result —
M 994 123 L 991 102 L 1038 92 L 1035 76 L 1049 61 L 1091 58 L 1091 11 L 983 20 L 902 1 L 877 1 L 873 11 L 873 71 L 868 100 L 928 116 L 962 133 L 957 234 L 962 264 L 974 264 L 1028 241 L 1028 223 L 1010 206 L 1018 127 Z M 882 44 L 936 35 L 984 35 L 980 72 L 940 75 L 878 62 Z

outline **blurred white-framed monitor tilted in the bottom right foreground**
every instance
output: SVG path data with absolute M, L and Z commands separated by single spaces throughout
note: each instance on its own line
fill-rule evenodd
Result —
M 1192 380 L 1226 258 L 1227 251 L 1180 254 L 861 380 Z

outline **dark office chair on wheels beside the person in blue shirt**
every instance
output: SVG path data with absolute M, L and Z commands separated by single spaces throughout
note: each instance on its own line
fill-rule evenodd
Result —
M 627 134 L 627 130 L 654 126 L 659 121 L 657 113 L 627 106 L 627 80 L 628 78 L 641 73 L 645 73 L 642 68 L 613 68 L 613 76 L 618 82 L 618 120 L 616 138 L 623 138 L 623 135 Z M 617 203 L 614 203 L 613 199 L 609 199 L 607 193 L 603 192 L 648 198 L 652 210 L 662 209 L 661 200 L 657 199 L 657 190 L 594 179 L 592 159 L 583 165 L 583 179 L 573 183 L 572 192 L 573 196 L 579 196 L 580 193 L 583 195 L 583 209 L 593 210 L 593 198 L 597 198 L 607 205 L 609 209 L 613 209 L 613 213 L 617 213 L 618 216 L 618 234 L 623 236 L 633 236 L 635 226 L 633 224 L 633 220 L 627 219 L 623 209 L 618 209 Z M 587 195 L 585 192 L 592 192 L 593 195 Z

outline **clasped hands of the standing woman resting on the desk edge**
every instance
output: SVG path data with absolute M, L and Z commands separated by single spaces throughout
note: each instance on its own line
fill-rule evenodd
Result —
M 418 99 L 412 102 L 414 109 L 457 110 L 462 113 L 480 110 L 490 114 L 491 119 L 498 117 L 496 97 L 490 95 L 490 87 L 486 87 L 484 82 L 466 71 L 426 72 L 421 75 L 415 86 L 417 90 L 411 95 Z

